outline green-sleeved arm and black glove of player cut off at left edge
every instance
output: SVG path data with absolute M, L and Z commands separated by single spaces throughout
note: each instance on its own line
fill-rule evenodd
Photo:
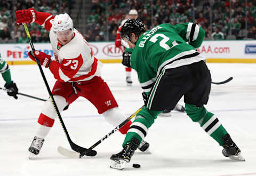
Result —
M 15 99 L 18 99 L 18 88 L 16 84 L 11 79 L 11 72 L 9 65 L 3 60 L 0 54 L 0 73 L 2 74 L 5 84 L 4 87 L 6 89 L 9 89 L 11 91 L 7 92 L 8 95 L 14 97 Z

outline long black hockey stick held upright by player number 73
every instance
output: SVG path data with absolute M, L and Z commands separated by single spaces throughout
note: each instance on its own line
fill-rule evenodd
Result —
M 41 75 L 42 75 L 42 77 L 43 77 L 43 79 L 44 79 L 44 83 L 45 83 L 45 86 L 46 86 L 46 88 L 47 88 L 47 91 L 48 91 L 48 93 L 49 93 L 49 95 L 50 95 L 50 97 L 51 97 L 53 107 L 54 107 L 54 109 L 55 109 L 55 111 L 56 111 L 56 114 L 57 114 L 57 116 L 58 116 L 58 118 L 59 118 L 59 121 L 60 121 L 60 124 L 61 124 L 61 126 L 62 126 L 62 129 L 64 130 L 64 132 L 65 132 L 65 134 L 66 134 L 66 137 L 67 137 L 67 139 L 68 139 L 68 142 L 69 142 L 70 147 L 71 147 L 73 150 L 75 150 L 75 151 L 77 151 L 77 152 L 79 152 L 79 153 L 84 153 L 84 155 L 87 155 L 87 156 L 95 156 L 95 155 L 97 154 L 97 152 L 96 152 L 95 150 L 88 150 L 88 149 L 86 149 L 86 148 L 80 147 L 80 146 L 76 145 L 76 144 L 71 140 L 71 138 L 69 137 L 69 134 L 68 134 L 68 131 L 67 131 L 67 129 L 66 129 L 66 126 L 65 126 L 65 124 L 64 124 L 64 122 L 63 122 L 63 120 L 62 120 L 62 118 L 61 118 L 60 111 L 59 111 L 59 109 L 58 109 L 58 107 L 57 107 L 57 105 L 56 105 L 56 102 L 55 102 L 55 100 L 54 100 L 54 98 L 53 98 L 53 95 L 52 95 L 52 92 L 51 92 L 51 90 L 50 90 L 50 87 L 49 87 L 49 85 L 48 85 L 48 83 L 47 83 L 47 80 L 46 80 L 46 78 L 45 78 L 44 71 L 43 71 L 43 69 L 42 69 L 42 67 L 41 67 L 41 64 L 40 64 L 39 60 L 38 60 L 38 59 L 35 57 L 35 55 L 34 55 L 35 47 L 34 47 L 32 41 L 31 41 L 31 37 L 30 37 L 30 34 L 29 34 L 28 27 L 27 27 L 26 23 L 23 23 L 23 26 L 24 26 L 25 31 L 26 31 L 26 34 L 27 34 L 28 42 L 29 42 L 29 44 L 30 44 L 30 46 L 31 46 L 31 49 L 32 49 L 32 51 L 33 51 L 33 52 L 31 52 L 31 53 L 32 53 L 33 56 L 34 56 L 34 58 L 35 58 L 35 60 L 36 60 L 36 63 L 37 63 L 37 65 L 38 65 L 38 67 L 39 67 L 39 70 L 40 70 L 40 72 L 41 72 Z

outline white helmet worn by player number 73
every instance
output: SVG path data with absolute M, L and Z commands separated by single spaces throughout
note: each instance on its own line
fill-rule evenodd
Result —
M 58 14 L 53 19 L 52 28 L 54 32 L 65 31 L 68 29 L 74 30 L 73 20 L 67 13 Z

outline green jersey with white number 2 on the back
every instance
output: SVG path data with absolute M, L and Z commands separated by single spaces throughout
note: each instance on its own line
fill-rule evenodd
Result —
M 172 26 L 163 23 L 141 35 L 131 54 L 131 67 L 138 73 L 140 85 L 148 93 L 165 69 L 205 60 L 195 49 L 201 46 L 205 31 L 195 23 Z

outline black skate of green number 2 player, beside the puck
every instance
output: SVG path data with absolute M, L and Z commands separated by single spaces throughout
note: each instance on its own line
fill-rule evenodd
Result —
M 120 153 L 110 157 L 110 167 L 113 169 L 123 170 L 125 165 L 131 161 L 134 151 L 137 149 L 139 144 L 139 139 L 132 138 L 131 142 L 127 143 Z

